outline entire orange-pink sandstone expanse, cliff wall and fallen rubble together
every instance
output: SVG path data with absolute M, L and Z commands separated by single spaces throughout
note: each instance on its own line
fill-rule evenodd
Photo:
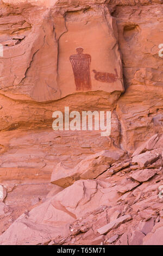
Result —
M 78 217 L 88 222 L 84 214 L 90 219 L 79 237 L 83 244 L 88 237 L 92 244 L 162 241 L 153 238 L 159 237 L 163 216 L 158 197 L 163 151 L 161 3 L 0 1 L 1 243 L 7 244 L 13 234 L 12 244 L 14 237 L 18 244 L 53 244 L 54 233 L 71 236 L 79 229 Z M 65 107 L 80 114 L 110 111 L 110 136 L 101 136 L 100 130 L 54 131 L 53 112 L 64 114 Z M 104 152 L 114 153 L 112 160 L 102 157 Z M 91 192 L 84 193 L 85 188 Z M 64 200 L 66 193 L 71 202 Z M 57 217 L 49 229 L 47 218 L 54 222 L 55 215 L 66 216 L 66 223 Z M 127 223 L 121 223 L 121 215 L 130 215 L 124 218 Z M 122 224 L 118 236 L 111 230 L 96 237 L 96 230 L 109 223 Z M 131 231 L 128 223 L 133 223 Z M 160 226 L 153 228 L 155 223 Z M 21 240 L 17 230 L 26 224 L 29 237 Z

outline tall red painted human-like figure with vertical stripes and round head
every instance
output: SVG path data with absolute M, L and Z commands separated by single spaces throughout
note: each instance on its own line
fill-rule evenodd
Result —
M 76 48 L 77 54 L 70 56 L 77 90 L 91 90 L 91 56 L 83 54 L 83 48 Z

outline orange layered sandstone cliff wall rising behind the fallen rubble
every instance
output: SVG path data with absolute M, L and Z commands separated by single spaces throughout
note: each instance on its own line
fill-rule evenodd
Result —
M 0 46 L 3 47 L 0 54 L 0 184 L 3 187 L 0 191 L 3 191 L 1 201 L 9 205 L 6 209 L 2 203 L 0 208 L 5 215 L 3 223 L 7 223 L 0 225 L 1 232 L 25 209 L 31 210 L 35 204 L 42 203 L 53 188 L 54 194 L 55 190 L 65 193 L 62 188 L 49 184 L 53 170 L 53 183 L 60 186 L 60 180 L 64 179 L 63 187 L 73 184 L 72 189 L 76 186 L 78 189 L 82 181 L 77 180 L 85 177 L 98 179 L 98 175 L 103 175 L 106 179 L 108 175 L 115 175 L 121 170 L 112 168 L 116 161 L 129 168 L 128 175 L 129 166 L 135 165 L 131 154 L 149 138 L 152 146 L 149 147 L 151 142 L 142 146 L 139 154 L 156 150 L 151 153 L 154 161 L 161 161 L 162 10 L 161 0 L 0 1 Z M 83 71 L 81 67 L 79 70 L 80 62 Z M 111 135 L 101 137 L 100 131 L 53 131 L 52 114 L 54 111 L 64 113 L 65 106 L 70 112 L 111 111 Z M 98 159 L 93 167 L 92 162 L 91 167 L 85 164 L 86 157 L 93 159 L 103 150 L 109 150 L 109 154 L 117 152 L 114 161 Z M 77 175 L 82 164 L 87 176 Z M 142 164 L 136 170 L 145 169 L 149 163 Z M 152 169 L 161 166 L 159 162 Z M 62 175 L 58 176 L 61 168 Z M 106 169 L 108 173 L 102 174 Z M 154 175 L 160 175 L 156 173 Z M 153 172 L 151 175 L 150 178 Z M 117 184 L 116 200 L 117 193 L 133 190 L 139 180 L 127 183 L 128 180 L 124 180 Z M 26 200 L 17 196 L 23 186 L 27 190 Z M 97 186 L 101 191 L 103 186 L 96 184 L 96 192 Z M 50 197 L 54 197 L 51 193 Z M 106 201 L 109 197 L 106 193 Z M 13 203 L 15 198 L 17 203 Z M 98 206 L 100 204 L 91 211 Z M 60 206 L 57 207 L 60 210 Z M 74 216 L 67 216 L 67 222 L 72 222 Z M 45 224 L 39 217 L 38 220 L 39 224 Z M 26 221 L 35 222 L 33 214 Z M 43 226 L 43 230 L 47 227 Z M 50 233 L 40 243 L 51 240 L 55 230 Z M 41 234 L 36 235 L 41 237 Z M 38 237 L 34 243 L 39 243 Z M 5 239 L 2 242 L 7 243 Z

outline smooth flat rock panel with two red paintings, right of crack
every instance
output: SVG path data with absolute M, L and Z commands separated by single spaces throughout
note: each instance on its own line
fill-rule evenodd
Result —
M 67 31 L 58 42 L 61 97 L 99 90 L 122 92 L 116 24 L 108 9 L 95 7 L 87 11 L 67 12 L 65 26 Z

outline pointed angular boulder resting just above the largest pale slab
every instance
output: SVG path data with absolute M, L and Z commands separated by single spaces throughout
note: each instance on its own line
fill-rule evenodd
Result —
M 86 157 L 74 169 L 68 169 L 62 163 L 58 163 L 53 170 L 51 182 L 61 187 L 67 187 L 79 179 L 95 179 L 123 155 L 124 151 L 121 149 L 103 150 Z

